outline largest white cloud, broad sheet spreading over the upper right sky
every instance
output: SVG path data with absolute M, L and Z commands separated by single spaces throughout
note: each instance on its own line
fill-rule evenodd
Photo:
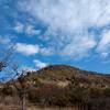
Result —
M 24 0 L 19 8 L 47 25 L 44 38 L 57 54 L 84 57 L 98 44 L 99 52 L 109 48 L 108 35 L 98 43 L 88 32 L 110 23 L 109 0 Z

